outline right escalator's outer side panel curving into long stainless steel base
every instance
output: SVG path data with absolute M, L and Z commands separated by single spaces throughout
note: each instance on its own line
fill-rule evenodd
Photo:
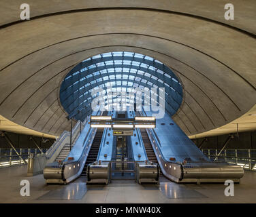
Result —
M 214 161 L 170 162 L 163 158 L 161 147 L 153 133 L 147 130 L 153 150 L 163 175 L 174 182 L 225 182 L 227 179 L 240 182 L 244 170 L 240 165 Z

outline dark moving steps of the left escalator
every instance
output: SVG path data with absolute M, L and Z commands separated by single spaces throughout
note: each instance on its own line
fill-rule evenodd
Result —
M 87 166 L 90 163 L 93 163 L 94 161 L 97 160 L 97 156 L 98 156 L 98 152 L 99 152 L 99 146 L 101 145 L 101 138 L 103 135 L 103 128 L 98 128 L 97 132 L 95 134 L 95 137 L 93 139 L 93 144 L 91 145 L 91 149 L 89 151 L 89 155 L 86 159 L 85 165 L 84 165 L 84 169 L 82 170 L 82 174 L 81 176 L 86 176 L 86 172 L 87 172 Z

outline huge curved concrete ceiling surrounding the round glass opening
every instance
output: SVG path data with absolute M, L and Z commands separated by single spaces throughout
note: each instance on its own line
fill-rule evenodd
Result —
M 187 135 L 255 105 L 255 1 L 230 1 L 237 8 L 231 21 L 222 1 L 60 2 L 27 1 L 34 18 L 22 22 L 14 15 L 21 1 L 0 3 L 0 114 L 7 119 L 57 136 L 68 130 L 61 81 L 78 62 L 113 51 L 151 56 L 176 73 L 185 92 L 173 118 Z

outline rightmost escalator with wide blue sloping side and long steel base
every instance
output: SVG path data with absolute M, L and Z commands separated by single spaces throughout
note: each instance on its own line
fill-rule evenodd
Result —
M 153 114 L 143 111 L 143 115 L 135 115 Z M 167 113 L 161 118 L 161 123 L 156 122 L 155 129 L 141 129 L 140 132 L 148 160 L 157 162 L 163 175 L 174 182 L 199 184 L 225 182 L 227 179 L 240 182 L 244 175 L 238 165 L 210 161 Z

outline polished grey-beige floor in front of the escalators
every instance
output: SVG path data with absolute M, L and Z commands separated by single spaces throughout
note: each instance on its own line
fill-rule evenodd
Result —
M 30 196 L 20 196 L 21 180 L 29 180 Z M 224 195 L 224 184 L 140 185 L 133 180 L 113 180 L 107 186 L 86 186 L 83 178 L 71 184 L 46 185 L 42 174 L 27 176 L 27 166 L 0 169 L 0 203 L 256 203 L 256 173 L 245 172 L 235 184 L 234 197 Z

